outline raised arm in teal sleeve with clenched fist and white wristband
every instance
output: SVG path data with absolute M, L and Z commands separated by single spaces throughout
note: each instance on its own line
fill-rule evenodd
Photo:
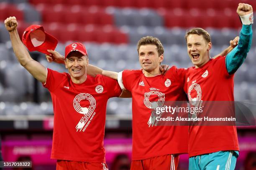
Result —
M 242 65 L 247 53 L 251 48 L 253 23 L 253 8 L 251 5 L 239 3 L 237 13 L 240 16 L 243 26 L 240 32 L 238 46 L 226 56 L 226 68 L 229 74 L 233 74 Z M 246 18 L 247 17 L 247 18 Z

